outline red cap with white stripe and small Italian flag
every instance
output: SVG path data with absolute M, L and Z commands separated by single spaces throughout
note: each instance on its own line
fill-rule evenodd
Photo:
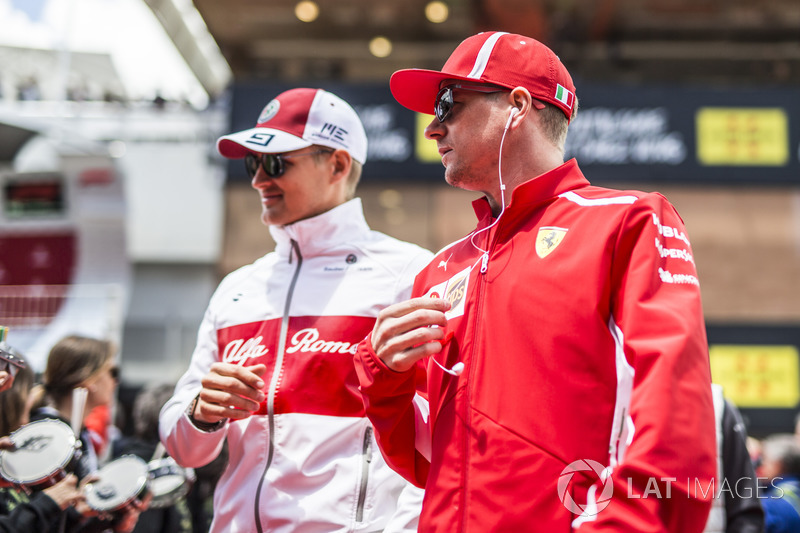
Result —
M 402 106 L 432 115 L 444 80 L 491 83 L 509 90 L 525 87 L 572 119 L 572 77 L 552 50 L 531 37 L 497 31 L 473 35 L 456 47 L 441 71 L 398 70 L 389 86 Z

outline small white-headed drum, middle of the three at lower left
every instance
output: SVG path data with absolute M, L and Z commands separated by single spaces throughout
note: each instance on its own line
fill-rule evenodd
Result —
M 123 455 L 95 472 L 97 481 L 87 483 L 86 503 L 102 513 L 124 511 L 148 492 L 147 463 L 135 455 Z

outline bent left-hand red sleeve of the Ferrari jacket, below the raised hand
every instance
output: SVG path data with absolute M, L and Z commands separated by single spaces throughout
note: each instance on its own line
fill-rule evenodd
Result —
M 430 428 L 427 410 L 416 401 L 417 390 L 425 386 L 424 366 L 420 363 L 406 372 L 391 370 L 375 354 L 371 334 L 358 345 L 354 360 L 364 408 L 386 463 L 417 487 L 424 487 L 430 462 L 417 443 L 424 448 L 430 442 Z

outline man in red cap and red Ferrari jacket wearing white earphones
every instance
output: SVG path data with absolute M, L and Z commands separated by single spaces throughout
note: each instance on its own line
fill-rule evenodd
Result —
M 714 411 L 674 208 L 564 162 L 575 87 L 534 39 L 475 35 L 391 90 L 436 115 L 447 182 L 484 194 L 355 357 L 387 461 L 426 489 L 420 531 L 702 531 Z

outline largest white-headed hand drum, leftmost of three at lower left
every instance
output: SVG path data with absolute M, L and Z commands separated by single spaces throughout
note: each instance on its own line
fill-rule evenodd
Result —
M 11 435 L 16 449 L 0 451 L 0 476 L 27 490 L 46 489 L 72 471 L 81 441 L 64 422 L 44 419 Z

